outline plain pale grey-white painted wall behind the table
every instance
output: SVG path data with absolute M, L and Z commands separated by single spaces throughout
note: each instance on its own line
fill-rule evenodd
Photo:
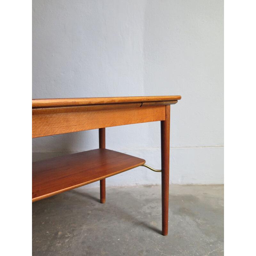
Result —
M 182 96 L 171 183 L 223 183 L 223 0 L 33 0 L 34 99 L 154 95 Z M 106 146 L 160 169 L 160 122 L 106 128 Z M 34 160 L 97 147 L 98 130 L 33 139 Z M 156 183 L 143 167 L 107 179 Z

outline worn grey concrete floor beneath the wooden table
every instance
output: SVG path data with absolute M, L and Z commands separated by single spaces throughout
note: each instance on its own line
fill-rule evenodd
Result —
M 33 255 L 216 256 L 223 252 L 223 186 L 170 186 L 161 235 L 161 187 L 76 188 L 33 203 Z

